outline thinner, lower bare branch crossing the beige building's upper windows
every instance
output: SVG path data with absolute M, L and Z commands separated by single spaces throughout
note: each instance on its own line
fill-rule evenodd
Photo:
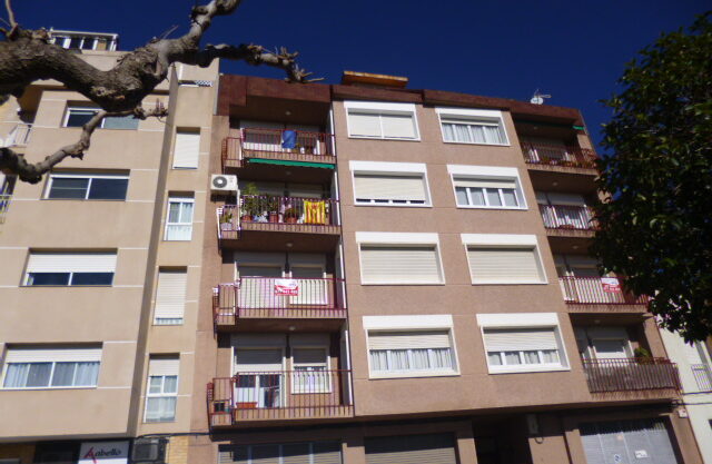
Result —
M 75 144 L 67 145 L 52 155 L 44 158 L 39 162 L 28 162 L 24 159 L 24 155 L 18 154 L 10 148 L 0 148 L 0 171 L 9 170 L 18 175 L 20 180 L 29 184 L 37 184 L 42 179 L 42 175 L 49 172 L 56 165 L 61 162 L 65 158 L 79 158 L 83 159 L 85 151 L 89 149 L 91 142 L 91 135 L 99 127 L 103 118 L 107 116 L 129 116 L 134 115 L 138 119 L 146 119 L 149 117 L 164 117 L 168 115 L 168 111 L 162 105 L 157 105 L 155 109 L 145 110 L 141 107 L 136 107 L 129 111 L 115 111 L 109 112 L 106 110 L 98 111 L 86 125 L 81 128 L 81 135 L 79 140 Z

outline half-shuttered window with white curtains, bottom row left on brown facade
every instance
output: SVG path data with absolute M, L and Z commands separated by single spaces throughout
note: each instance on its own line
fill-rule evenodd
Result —
M 449 330 L 369 332 L 368 346 L 374 374 L 455 372 Z

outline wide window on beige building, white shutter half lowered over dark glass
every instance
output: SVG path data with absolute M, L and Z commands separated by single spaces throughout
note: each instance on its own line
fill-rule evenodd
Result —
M 116 253 L 30 251 L 24 285 L 111 285 L 115 272 Z

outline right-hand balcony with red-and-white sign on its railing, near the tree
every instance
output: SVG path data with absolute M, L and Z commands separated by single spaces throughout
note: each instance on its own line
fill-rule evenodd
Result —
M 615 277 L 558 277 L 558 284 L 573 310 L 644 313 L 647 308 L 647 296 L 635 297 L 624 292 Z

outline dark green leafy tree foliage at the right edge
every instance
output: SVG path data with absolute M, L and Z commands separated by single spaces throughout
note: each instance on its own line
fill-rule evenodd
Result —
M 600 160 L 602 270 L 685 339 L 712 335 L 712 11 L 626 66 Z

